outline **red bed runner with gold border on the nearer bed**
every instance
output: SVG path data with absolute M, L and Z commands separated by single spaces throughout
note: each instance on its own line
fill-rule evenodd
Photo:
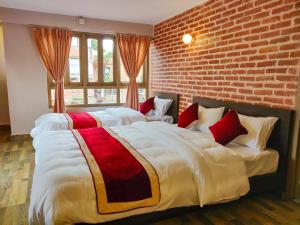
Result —
M 93 176 L 100 214 L 158 204 L 158 176 L 127 141 L 109 128 L 72 132 Z

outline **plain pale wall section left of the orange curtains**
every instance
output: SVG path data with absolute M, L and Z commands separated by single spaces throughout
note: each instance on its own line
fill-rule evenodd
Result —
M 46 71 L 28 27 L 3 27 L 11 132 L 28 134 L 34 120 L 49 111 Z

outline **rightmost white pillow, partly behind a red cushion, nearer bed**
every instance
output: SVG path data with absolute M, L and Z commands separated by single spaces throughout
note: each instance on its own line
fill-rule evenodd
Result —
M 241 135 L 232 142 L 249 148 L 263 151 L 266 148 L 272 130 L 277 122 L 276 117 L 253 117 L 238 114 L 241 124 L 248 134 Z

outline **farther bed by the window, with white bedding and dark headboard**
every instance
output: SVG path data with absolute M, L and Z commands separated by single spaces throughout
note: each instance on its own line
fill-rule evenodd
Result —
M 144 115 L 136 110 L 116 107 L 107 108 L 101 111 L 81 113 L 81 121 L 87 119 L 94 120 L 95 125 L 92 126 L 116 126 L 116 125 L 127 125 L 136 121 L 164 121 L 168 123 L 174 123 L 177 121 L 178 116 L 178 95 L 173 93 L 156 92 L 154 96 L 158 96 L 160 99 L 171 99 L 173 100 L 172 105 L 164 115 Z M 74 116 L 78 113 L 75 113 Z M 85 118 L 82 118 L 85 116 Z M 74 119 L 74 118 L 73 118 Z M 51 130 L 68 130 L 72 129 L 73 120 L 70 114 L 65 113 L 47 113 L 40 116 L 35 121 L 35 127 L 31 130 L 30 134 L 34 138 L 38 134 L 44 131 Z M 93 123 L 93 121 L 91 121 Z

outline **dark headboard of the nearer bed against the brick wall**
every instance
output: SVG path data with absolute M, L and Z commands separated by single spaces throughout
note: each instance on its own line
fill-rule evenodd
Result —
M 227 102 L 209 98 L 193 97 L 193 102 L 197 102 L 199 105 L 207 108 L 225 107 L 225 112 L 229 109 L 234 109 L 238 113 L 248 116 L 273 116 L 278 117 L 279 120 L 275 124 L 273 132 L 267 143 L 267 147 L 277 150 L 279 152 L 279 168 L 286 170 L 289 143 L 290 143 L 290 131 L 293 111 L 285 109 L 275 109 L 266 106 L 249 105 L 245 103 Z

